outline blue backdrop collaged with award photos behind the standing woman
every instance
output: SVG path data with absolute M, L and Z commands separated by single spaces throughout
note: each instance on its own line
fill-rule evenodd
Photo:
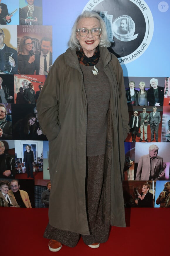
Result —
M 67 49 L 75 19 L 84 10 L 94 10 L 106 23 L 111 42 L 109 51 L 118 57 L 124 74 L 131 128 L 125 140 L 125 207 L 160 207 L 157 199 L 164 184 L 170 181 L 170 75 L 167 60 L 160 68 L 152 57 L 156 58 L 154 48 L 159 48 L 155 35 L 167 29 L 163 26 L 169 20 L 167 5 L 161 5 L 160 1 L 151 5 L 149 0 L 115 0 L 114 3 L 112 0 L 82 0 L 81 3 L 78 0 L 64 0 L 62 3 L 51 0 L 49 4 L 44 0 L 34 0 L 32 10 L 28 4 L 27 0 L 0 1 L 0 136 L 4 153 L 13 159 L 12 176 L 4 177 L 0 171 L 0 179 L 9 182 L 18 179 L 20 189 L 29 195 L 31 207 L 44 207 L 41 194 L 50 181 L 49 148 L 39 127 L 36 102 L 50 67 Z M 167 41 L 162 54 L 168 49 Z M 166 54 L 166 59 L 169 59 Z M 160 60 L 161 56 L 157 52 L 157 59 Z M 151 124 L 153 107 L 157 108 L 156 114 L 159 115 L 156 130 Z M 146 125 L 142 127 L 143 108 L 146 110 Z M 134 112 L 137 112 L 136 128 Z M 158 156 L 162 160 L 157 168 L 158 175 L 150 180 L 142 176 L 138 163 L 141 157 L 149 155 L 149 147 L 153 144 L 159 148 Z M 27 163 L 24 161 L 28 146 L 33 152 L 32 177 L 31 172 L 26 172 Z M 163 177 L 159 177 L 161 169 L 165 173 Z M 137 199 L 142 186 L 146 186 L 144 184 L 149 184 L 147 196 L 151 195 L 142 205 Z M 168 202 L 166 207 L 169 207 Z

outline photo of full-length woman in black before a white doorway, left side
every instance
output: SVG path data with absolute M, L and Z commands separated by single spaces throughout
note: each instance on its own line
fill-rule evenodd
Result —
M 17 179 L 43 179 L 43 141 L 15 140 L 15 171 Z

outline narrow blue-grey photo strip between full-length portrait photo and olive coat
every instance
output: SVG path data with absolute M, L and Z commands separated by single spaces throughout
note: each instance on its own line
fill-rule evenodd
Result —
M 50 179 L 50 172 L 48 167 L 49 146 L 48 141 L 43 141 L 43 179 Z

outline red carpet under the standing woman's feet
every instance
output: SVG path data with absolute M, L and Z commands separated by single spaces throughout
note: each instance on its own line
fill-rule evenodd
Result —
M 169 255 L 169 209 L 126 208 L 126 228 L 112 227 L 108 242 L 98 249 L 86 246 L 82 239 L 74 248 L 62 246 L 50 252 L 43 232 L 48 209 L 1 207 L 1 255 L 12 256 L 159 256 Z

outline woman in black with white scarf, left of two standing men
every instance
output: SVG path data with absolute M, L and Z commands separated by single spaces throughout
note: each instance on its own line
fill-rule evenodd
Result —
M 140 122 L 139 117 L 137 116 L 138 112 L 135 111 L 133 115 L 130 117 L 129 126 L 130 132 L 132 133 L 132 142 L 136 142 L 136 136 L 139 132 Z

